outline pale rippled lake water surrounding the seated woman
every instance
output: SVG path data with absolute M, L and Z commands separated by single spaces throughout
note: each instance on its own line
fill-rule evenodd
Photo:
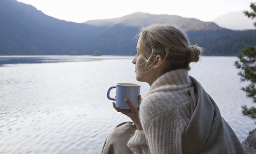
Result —
M 135 79 L 133 57 L 0 56 L 1 154 L 98 154 L 108 134 L 128 117 L 106 98 L 118 82 Z M 246 98 L 236 57 L 202 57 L 191 65 L 242 142 L 256 125 L 241 113 Z M 111 94 L 115 95 L 114 92 Z

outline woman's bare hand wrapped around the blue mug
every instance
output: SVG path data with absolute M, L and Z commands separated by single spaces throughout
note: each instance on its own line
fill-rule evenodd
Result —
M 141 102 L 141 96 L 138 97 L 139 103 Z M 113 102 L 113 107 L 117 112 L 121 112 L 122 114 L 127 115 L 127 117 L 130 117 L 132 121 L 134 122 L 136 128 L 138 130 L 142 130 L 142 126 L 139 121 L 139 110 L 132 104 L 132 102 L 128 99 L 125 98 L 124 102 L 127 103 L 127 105 L 131 108 L 131 110 L 124 110 L 116 107 L 116 104 Z

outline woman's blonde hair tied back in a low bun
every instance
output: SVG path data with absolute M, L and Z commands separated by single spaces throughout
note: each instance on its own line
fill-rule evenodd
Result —
M 139 52 L 149 69 L 153 66 L 149 63 L 152 58 L 160 55 L 169 64 L 169 70 L 190 70 L 189 63 L 197 62 L 202 52 L 199 46 L 191 46 L 184 32 L 174 26 L 151 25 L 142 28 L 139 36 Z

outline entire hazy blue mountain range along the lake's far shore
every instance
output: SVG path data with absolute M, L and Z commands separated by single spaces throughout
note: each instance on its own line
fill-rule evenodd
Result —
M 204 55 L 237 55 L 255 45 L 256 30 L 230 30 L 213 22 L 136 12 L 124 17 L 74 23 L 45 15 L 16 0 L 0 0 L 0 55 L 134 55 L 141 25 L 168 23 L 184 29 Z

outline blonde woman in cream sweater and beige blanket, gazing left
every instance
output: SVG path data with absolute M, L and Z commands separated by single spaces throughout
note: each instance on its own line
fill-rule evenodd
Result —
M 139 111 L 127 98 L 131 110 L 118 109 L 113 102 L 134 125 L 118 125 L 102 153 L 245 153 L 213 99 L 188 76 L 189 63 L 197 62 L 201 52 L 173 26 L 152 25 L 141 30 L 132 63 L 136 79 L 147 82 L 150 90 Z

